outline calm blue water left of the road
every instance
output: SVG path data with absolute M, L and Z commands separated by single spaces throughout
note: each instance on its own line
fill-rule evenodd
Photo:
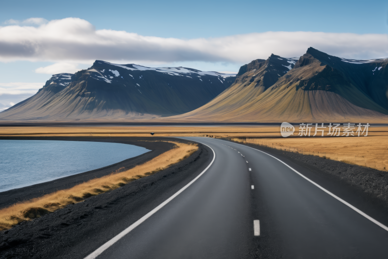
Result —
M 94 170 L 148 151 L 121 143 L 0 140 L 0 191 Z

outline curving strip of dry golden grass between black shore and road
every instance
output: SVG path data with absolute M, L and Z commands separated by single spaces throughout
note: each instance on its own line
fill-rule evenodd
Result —
M 28 202 L 16 203 L 0 209 L 0 230 L 9 229 L 21 221 L 39 218 L 69 204 L 81 202 L 85 198 L 117 189 L 126 183 L 162 171 L 189 157 L 198 149 L 196 144 L 172 143 L 175 144 L 173 149 L 127 171 L 113 172 L 67 190 L 59 190 Z

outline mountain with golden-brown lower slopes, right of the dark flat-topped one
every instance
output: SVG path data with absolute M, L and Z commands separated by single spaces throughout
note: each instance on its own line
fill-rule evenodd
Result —
M 314 48 L 299 59 L 272 54 L 242 66 L 235 83 L 208 104 L 170 120 L 387 122 L 387 63 Z

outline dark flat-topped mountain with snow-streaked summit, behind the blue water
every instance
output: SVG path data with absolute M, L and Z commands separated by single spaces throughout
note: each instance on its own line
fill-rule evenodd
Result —
M 53 75 L 32 97 L 0 113 L 0 120 L 118 120 L 192 111 L 212 100 L 235 74 L 189 68 L 147 68 L 96 60 L 75 74 Z

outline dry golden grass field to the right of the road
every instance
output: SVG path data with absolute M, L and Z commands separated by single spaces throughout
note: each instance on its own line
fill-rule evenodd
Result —
M 335 138 L 232 138 L 241 143 L 252 143 L 271 148 L 319 155 L 349 164 L 388 171 L 388 137 Z

